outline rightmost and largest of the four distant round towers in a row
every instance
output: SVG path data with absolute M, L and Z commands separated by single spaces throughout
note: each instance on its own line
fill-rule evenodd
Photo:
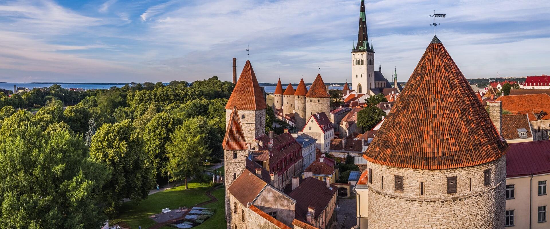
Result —
M 331 96 L 324 86 L 321 74 L 317 74 L 310 90 L 306 94 L 306 120 L 313 114 L 324 112 L 327 116 L 331 111 Z

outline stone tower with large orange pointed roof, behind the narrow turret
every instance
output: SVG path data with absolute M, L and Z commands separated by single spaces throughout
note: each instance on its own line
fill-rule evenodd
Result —
M 243 72 L 227 102 L 226 126 L 229 126 L 229 119 L 235 107 L 247 143 L 254 142 L 256 137 L 266 133 L 267 104 L 249 60 L 246 60 Z

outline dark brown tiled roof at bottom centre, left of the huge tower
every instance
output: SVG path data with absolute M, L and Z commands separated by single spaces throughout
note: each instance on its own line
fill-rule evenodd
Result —
M 318 219 L 338 191 L 338 187 L 334 185 L 331 185 L 331 188 L 327 188 L 327 182 L 313 177 L 305 178 L 300 186 L 288 194 L 290 198 L 296 200 L 296 219 L 305 221 L 309 206 L 315 208 L 315 219 Z

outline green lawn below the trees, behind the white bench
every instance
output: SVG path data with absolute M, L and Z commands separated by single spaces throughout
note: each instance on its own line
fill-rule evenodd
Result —
M 160 213 L 161 209 L 177 209 L 180 206 L 193 206 L 209 200 L 210 198 L 205 194 L 208 188 L 210 188 L 210 184 L 189 183 L 188 190 L 185 190 L 185 185 L 182 185 L 151 194 L 138 205 L 133 201 L 126 202 L 120 208 L 119 219 L 111 220 L 109 224 L 126 222 L 132 229 L 138 229 L 139 226 L 143 229 L 149 228 L 155 224 L 155 221 L 149 219 L 149 216 Z

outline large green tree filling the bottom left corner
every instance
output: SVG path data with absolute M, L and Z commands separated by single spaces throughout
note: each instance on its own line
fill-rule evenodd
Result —
M 19 111 L 0 130 L 0 228 L 99 228 L 105 166 L 66 124 L 42 131 L 30 116 Z

